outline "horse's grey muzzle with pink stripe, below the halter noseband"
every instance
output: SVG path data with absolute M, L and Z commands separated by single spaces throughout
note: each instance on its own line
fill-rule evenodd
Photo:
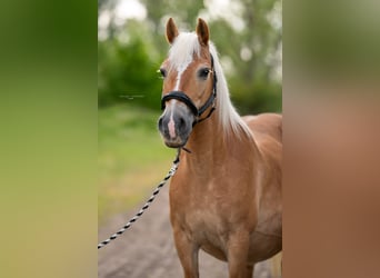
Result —
M 189 139 L 194 116 L 184 105 L 176 100 L 170 102 L 159 118 L 158 128 L 168 147 L 181 148 Z

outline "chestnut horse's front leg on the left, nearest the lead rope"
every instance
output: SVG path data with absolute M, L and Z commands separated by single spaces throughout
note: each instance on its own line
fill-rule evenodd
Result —
M 173 227 L 174 244 L 180 258 L 184 278 L 199 278 L 198 252 L 199 247 L 190 241 L 184 231 Z

